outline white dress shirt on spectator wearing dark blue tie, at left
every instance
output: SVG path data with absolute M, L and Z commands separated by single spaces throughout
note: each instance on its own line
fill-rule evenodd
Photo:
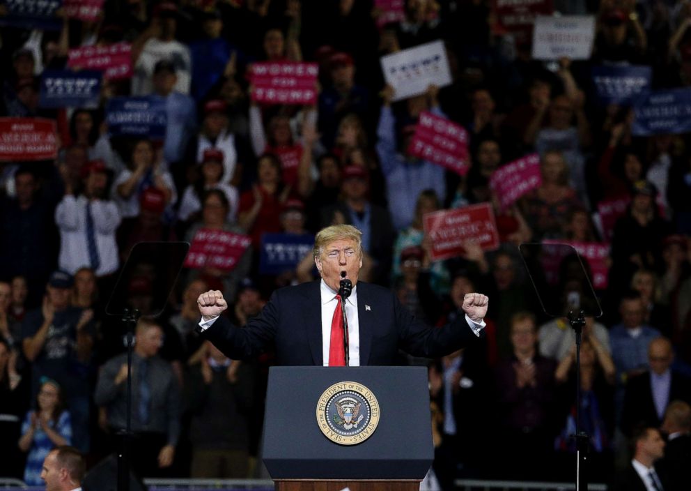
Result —
M 86 239 L 86 205 L 83 195 L 65 195 L 55 210 L 55 222 L 60 229 L 59 266 L 63 271 L 75 274 L 81 267 L 91 267 Z M 97 276 L 113 273 L 118 269 L 118 245 L 115 232 L 120 225 L 120 213 L 110 200 L 95 199 L 91 202 L 96 249 L 100 264 Z

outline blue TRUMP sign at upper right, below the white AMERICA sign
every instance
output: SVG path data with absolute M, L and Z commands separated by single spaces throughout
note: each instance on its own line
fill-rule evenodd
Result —
M 651 89 L 650 66 L 593 66 L 593 84 L 605 104 L 632 105 Z

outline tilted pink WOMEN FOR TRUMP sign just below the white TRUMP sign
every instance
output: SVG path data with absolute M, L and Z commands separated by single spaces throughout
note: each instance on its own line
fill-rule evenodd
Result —
M 408 153 L 465 176 L 468 166 L 468 132 L 448 119 L 421 112 Z

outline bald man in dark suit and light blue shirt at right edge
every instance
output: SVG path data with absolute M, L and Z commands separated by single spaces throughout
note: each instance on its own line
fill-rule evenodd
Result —
M 648 345 L 650 370 L 629 379 L 621 414 L 621 430 L 630 436 L 633 428 L 644 424 L 659 428 L 671 400 L 691 402 L 691 380 L 671 370 L 674 352 L 667 338 L 656 338 Z

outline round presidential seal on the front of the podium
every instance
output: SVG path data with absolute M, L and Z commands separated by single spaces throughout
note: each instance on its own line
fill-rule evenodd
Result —
M 379 402 L 358 382 L 339 382 L 327 388 L 317 402 L 317 424 L 339 445 L 355 445 L 372 436 L 379 424 Z

